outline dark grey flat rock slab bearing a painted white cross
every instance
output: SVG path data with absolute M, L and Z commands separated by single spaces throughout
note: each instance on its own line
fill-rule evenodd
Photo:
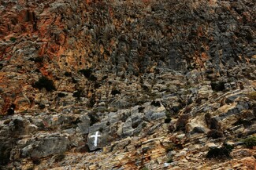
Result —
M 106 136 L 99 131 L 90 132 L 87 136 L 87 145 L 90 150 L 102 149 L 106 146 Z

